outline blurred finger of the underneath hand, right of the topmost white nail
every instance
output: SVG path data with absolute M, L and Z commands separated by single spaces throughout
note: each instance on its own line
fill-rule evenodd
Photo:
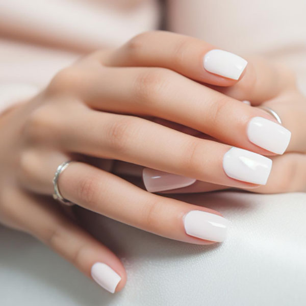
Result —
M 294 73 L 287 67 L 263 58 L 250 58 L 240 82 L 232 87 L 212 88 L 235 99 L 248 100 L 256 106 L 294 87 Z

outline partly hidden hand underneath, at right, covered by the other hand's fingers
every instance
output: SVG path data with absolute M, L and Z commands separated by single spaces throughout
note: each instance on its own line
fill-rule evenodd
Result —
M 282 125 L 292 132 L 291 141 L 284 154 L 269 157 L 273 162 L 273 167 L 267 184 L 253 188 L 251 191 L 257 193 L 305 192 L 306 97 L 297 88 L 294 73 L 288 67 L 261 58 L 252 58 L 250 62 L 255 70 L 252 75 L 247 70 L 243 79 L 232 87 L 212 86 L 212 88 L 227 96 L 250 101 L 253 108 L 268 107 L 272 109 L 281 118 Z M 254 76 L 257 78 L 254 79 Z M 254 88 L 249 86 L 251 83 L 254 84 Z M 170 122 L 161 123 L 185 133 L 195 134 L 197 137 L 206 136 L 187 127 L 174 126 Z M 262 135 L 265 133 L 267 131 L 263 129 Z M 273 142 L 273 139 L 270 142 Z M 142 172 L 139 167 L 122 164 L 122 162 L 117 162 L 114 169 L 118 174 L 130 172 L 135 176 L 141 176 Z M 160 179 L 154 180 L 151 178 L 152 176 L 160 177 Z M 152 169 L 145 169 L 143 178 L 149 190 L 153 186 L 155 189 L 151 191 L 163 191 L 164 193 L 194 193 L 228 189 L 228 186 L 190 181 L 190 186 L 170 190 L 171 182 L 180 186 L 186 182 L 186 178 L 170 173 L 159 173 Z

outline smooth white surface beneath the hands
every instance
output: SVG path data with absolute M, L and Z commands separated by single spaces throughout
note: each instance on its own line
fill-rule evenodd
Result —
M 33 238 L 0 228 L 0 304 L 304 304 L 306 194 L 181 197 L 220 210 L 231 221 L 227 240 L 215 246 L 191 245 L 98 216 L 94 230 L 120 254 L 129 277 L 123 291 L 114 295 Z

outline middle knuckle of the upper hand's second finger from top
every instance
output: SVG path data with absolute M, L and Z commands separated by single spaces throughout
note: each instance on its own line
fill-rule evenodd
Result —
M 135 80 L 135 101 L 148 106 L 157 104 L 163 100 L 171 77 L 170 71 L 164 68 L 149 68 L 140 72 Z

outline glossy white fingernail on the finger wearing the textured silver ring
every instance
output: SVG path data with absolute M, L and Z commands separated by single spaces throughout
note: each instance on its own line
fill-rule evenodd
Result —
M 227 219 L 203 211 L 190 211 L 184 217 L 186 234 L 205 240 L 224 241 L 227 226 Z

